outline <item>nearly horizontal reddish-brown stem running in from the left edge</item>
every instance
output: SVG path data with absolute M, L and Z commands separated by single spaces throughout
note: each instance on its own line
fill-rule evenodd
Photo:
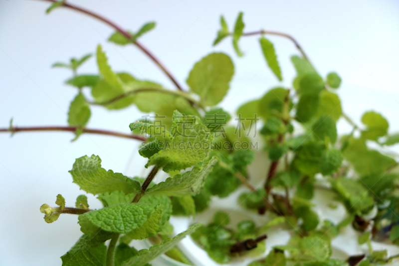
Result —
M 78 127 L 11 127 L 11 128 L 0 128 L 0 132 L 21 132 L 21 131 L 69 131 L 69 132 L 76 132 Z M 102 129 L 88 129 L 88 128 L 80 128 L 82 133 L 91 133 L 91 134 L 100 134 L 100 135 L 109 135 L 109 136 L 116 136 L 121 138 L 128 138 L 128 139 L 137 139 L 141 141 L 147 141 L 147 139 L 141 135 L 132 135 L 132 134 L 125 134 L 115 131 L 108 131 Z

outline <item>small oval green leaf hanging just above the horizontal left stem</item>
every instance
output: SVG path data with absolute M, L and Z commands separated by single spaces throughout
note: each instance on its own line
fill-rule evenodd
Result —
M 68 112 L 70 126 L 84 127 L 91 116 L 90 106 L 82 93 L 79 93 L 71 102 Z

